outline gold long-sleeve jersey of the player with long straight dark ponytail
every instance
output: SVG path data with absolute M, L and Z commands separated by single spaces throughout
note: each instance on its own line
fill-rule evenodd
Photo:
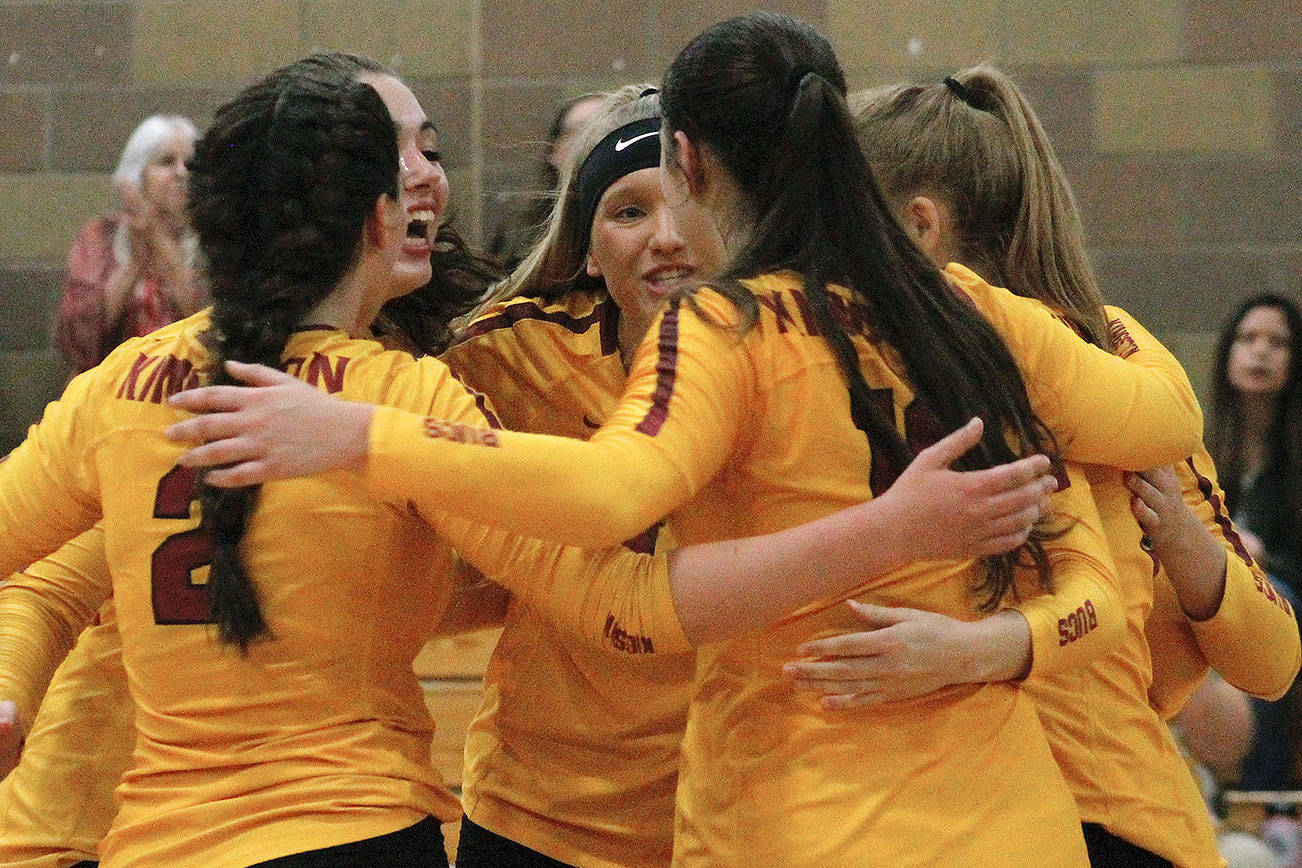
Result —
M 736 537 L 871 497 L 871 444 L 850 423 L 836 359 L 803 314 L 798 277 L 772 275 L 747 286 L 760 321 L 745 336 L 729 328 L 732 305 L 710 290 L 695 306 L 664 312 L 639 349 L 624 400 L 587 444 L 512 432 L 469 444 L 471 437 L 449 439 L 436 419 L 380 409 L 370 484 L 401 502 L 454 502 L 475 518 L 583 544 L 624 539 L 664 515 L 684 544 Z M 1044 375 L 1029 377 L 1032 401 L 1070 449 L 1146 466 L 1170 461 L 1197 439 L 1200 416 L 1182 376 L 1148 376 L 1085 347 L 1047 312 L 1003 290 L 982 285 L 969 295 L 983 311 L 997 308 L 992 319 L 1023 366 Z M 854 342 L 870 385 L 907 435 L 914 396 L 893 353 L 863 332 Z M 1064 398 L 1072 389 L 1081 390 L 1079 402 Z M 1161 418 L 1173 427 L 1138 446 L 1111 427 Z M 889 479 L 880 462 L 879 472 Z M 521 476 L 533 484 L 499 488 L 491 509 L 464 500 L 495 479 Z M 1087 488 L 1082 480 L 1064 492 L 1079 498 L 1065 509 L 1079 521 L 1060 549 L 1059 571 L 1099 593 L 1072 609 L 1060 603 L 1056 626 L 1068 651 L 1105 647 L 1104 636 L 1116 638 L 1121 626 L 1116 617 L 1090 617 L 1112 567 Z M 915 565 L 857 596 L 975 617 L 971 570 L 966 562 Z M 1017 687 L 943 691 L 874 714 L 871 725 L 790 694 L 780 670 L 794 647 L 855 627 L 838 600 L 698 655 L 676 863 L 1081 864 L 1074 804 Z

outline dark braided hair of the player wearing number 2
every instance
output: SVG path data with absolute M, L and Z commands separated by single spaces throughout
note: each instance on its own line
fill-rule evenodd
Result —
M 227 359 L 281 366 L 303 316 L 355 264 L 376 199 L 397 198 L 397 172 L 384 102 L 337 55 L 289 64 L 217 109 L 195 146 L 189 204 L 214 301 L 211 383 L 233 383 Z M 270 632 L 240 554 L 258 492 L 199 489 L 211 619 L 243 652 Z

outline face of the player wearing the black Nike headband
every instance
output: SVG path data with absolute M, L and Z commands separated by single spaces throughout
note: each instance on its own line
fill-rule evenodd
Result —
M 620 306 L 621 345 L 626 340 L 635 345 L 660 303 L 695 285 L 713 264 L 708 254 L 684 241 L 664 200 L 658 168 L 630 172 L 602 194 L 586 267 L 605 281 Z

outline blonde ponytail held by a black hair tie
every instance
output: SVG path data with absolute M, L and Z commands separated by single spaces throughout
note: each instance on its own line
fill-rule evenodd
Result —
M 893 208 L 914 195 L 943 199 L 960 262 L 1046 302 L 1111 349 L 1072 186 L 1013 79 L 982 64 L 941 83 L 859 91 L 850 107 Z

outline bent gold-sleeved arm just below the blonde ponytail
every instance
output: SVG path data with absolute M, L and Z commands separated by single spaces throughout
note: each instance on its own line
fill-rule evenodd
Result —
M 1117 323 L 1113 355 L 1082 341 L 1036 301 L 961 265 L 945 273 L 1008 344 L 1031 405 L 1065 458 L 1143 470 L 1180 461 L 1200 442 L 1202 411 L 1184 368 L 1124 311 L 1108 308 Z

